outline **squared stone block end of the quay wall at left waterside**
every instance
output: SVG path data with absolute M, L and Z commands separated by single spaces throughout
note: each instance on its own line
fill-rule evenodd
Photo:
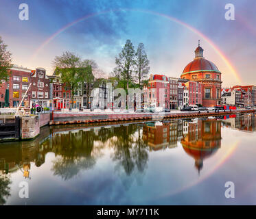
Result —
M 38 116 L 22 116 L 21 118 L 21 139 L 31 139 L 40 133 Z

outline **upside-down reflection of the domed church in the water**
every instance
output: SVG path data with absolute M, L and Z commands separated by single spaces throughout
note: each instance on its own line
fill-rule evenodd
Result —
M 220 120 L 194 120 L 187 122 L 187 135 L 181 140 L 185 152 L 194 157 L 195 166 L 200 171 L 203 160 L 220 148 Z

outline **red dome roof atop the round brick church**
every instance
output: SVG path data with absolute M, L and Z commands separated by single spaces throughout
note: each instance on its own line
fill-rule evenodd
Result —
M 197 48 L 198 49 L 198 48 Z M 185 66 L 183 70 L 184 73 L 189 73 L 191 71 L 201 71 L 201 70 L 209 70 L 209 71 L 217 71 L 219 72 L 217 66 L 208 60 L 205 60 L 204 57 L 196 58 L 192 62 L 189 62 L 187 66 Z

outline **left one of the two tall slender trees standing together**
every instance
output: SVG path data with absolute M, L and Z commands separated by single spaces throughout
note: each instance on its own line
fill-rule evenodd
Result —
M 117 64 L 116 70 L 119 71 L 121 79 L 126 81 L 128 92 L 129 82 L 132 81 L 132 70 L 135 65 L 135 48 L 130 40 L 126 40 L 119 57 L 115 57 L 115 64 Z

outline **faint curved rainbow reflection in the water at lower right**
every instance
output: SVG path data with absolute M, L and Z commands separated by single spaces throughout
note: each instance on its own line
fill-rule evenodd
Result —
M 183 186 L 182 188 L 169 192 L 167 194 L 164 194 L 163 196 L 159 196 L 159 198 L 163 198 L 163 197 L 167 197 L 167 196 L 172 196 L 174 194 L 178 194 L 180 192 L 183 192 L 185 190 L 187 190 L 188 188 L 193 187 L 194 185 L 197 185 L 198 183 L 201 183 L 202 181 L 204 181 L 205 179 L 207 179 L 207 177 L 209 177 L 210 175 L 213 174 L 213 172 L 215 172 L 218 168 L 220 168 L 220 166 L 222 166 L 226 160 L 229 159 L 229 157 L 231 157 L 231 155 L 234 153 L 235 149 L 237 149 L 239 142 L 235 142 L 235 144 L 233 144 L 233 146 L 231 146 L 226 153 L 224 154 L 223 157 L 221 157 L 221 159 L 218 160 L 218 163 L 211 169 L 209 170 L 209 172 L 207 172 L 207 174 L 203 175 L 202 177 L 200 177 L 200 179 L 192 181 L 191 183 Z

